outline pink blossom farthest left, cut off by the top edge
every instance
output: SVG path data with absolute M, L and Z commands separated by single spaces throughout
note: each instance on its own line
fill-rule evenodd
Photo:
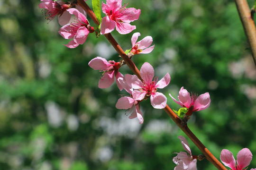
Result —
M 58 16 L 59 24 L 61 26 L 67 24 L 71 18 L 67 9 L 70 8 L 70 5 L 65 4 L 62 0 L 41 0 L 42 2 L 38 5 L 39 8 L 45 8 L 42 10 L 43 14 L 46 16 L 46 19 L 51 21 L 54 17 Z

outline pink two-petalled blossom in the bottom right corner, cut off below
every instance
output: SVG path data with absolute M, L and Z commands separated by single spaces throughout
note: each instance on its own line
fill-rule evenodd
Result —
M 248 148 L 243 148 L 238 152 L 236 163 L 233 153 L 227 149 L 223 149 L 220 153 L 220 160 L 224 163 L 225 166 L 231 168 L 232 170 L 243 170 L 252 161 L 252 156 L 253 155 Z

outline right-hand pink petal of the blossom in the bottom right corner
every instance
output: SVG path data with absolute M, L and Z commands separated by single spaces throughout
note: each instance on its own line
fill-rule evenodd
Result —
M 248 148 L 244 148 L 238 152 L 237 163 L 239 168 L 246 168 L 252 161 L 252 153 Z

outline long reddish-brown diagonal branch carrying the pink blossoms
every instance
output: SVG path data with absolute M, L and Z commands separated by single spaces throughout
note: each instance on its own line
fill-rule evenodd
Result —
M 88 5 L 83 0 L 77 0 L 78 5 L 80 5 L 87 14 L 92 18 L 92 20 L 95 22 L 95 24 L 99 24 L 95 14 L 91 11 L 91 9 L 88 7 Z M 109 42 L 112 44 L 112 46 L 115 48 L 115 50 L 119 53 L 119 55 L 122 57 L 122 59 L 127 63 L 128 67 L 132 70 L 132 72 L 137 75 L 140 80 L 142 80 L 139 70 L 135 66 L 135 64 L 132 62 L 131 59 L 128 58 L 128 56 L 125 54 L 125 52 L 122 50 L 120 45 L 116 42 L 116 40 L 112 37 L 111 34 L 105 34 L 106 38 L 109 40 Z M 227 170 L 219 161 L 216 159 L 210 151 L 201 143 L 201 141 L 191 132 L 191 130 L 187 126 L 183 126 L 181 124 L 181 119 L 174 113 L 174 111 L 166 105 L 164 108 L 165 112 L 174 120 L 174 122 L 183 130 L 183 132 L 192 140 L 192 142 L 201 150 L 201 152 L 205 155 L 205 157 L 219 170 Z

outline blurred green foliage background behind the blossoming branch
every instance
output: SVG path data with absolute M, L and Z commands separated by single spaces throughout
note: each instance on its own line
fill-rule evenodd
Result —
M 172 170 L 183 132 L 149 100 L 141 103 L 142 125 L 117 110 L 120 94 L 128 93 L 115 84 L 99 89 L 101 72 L 88 66 L 97 56 L 119 61 L 117 52 L 94 34 L 68 49 L 57 19 L 47 23 L 39 3 L 0 0 L 0 170 Z M 176 97 L 182 86 L 209 92 L 210 107 L 189 120 L 192 132 L 218 159 L 223 148 L 235 157 L 249 148 L 249 169 L 256 168 L 256 67 L 233 0 L 124 3 L 141 15 L 132 33 L 112 32 L 121 47 L 131 48 L 135 32 L 155 44 L 133 57 L 137 67 L 147 61 L 159 78 L 170 73 L 170 85 L 158 91 L 174 110 L 179 105 L 168 94 Z M 120 72 L 132 74 L 127 66 Z M 207 160 L 197 165 L 216 170 Z

